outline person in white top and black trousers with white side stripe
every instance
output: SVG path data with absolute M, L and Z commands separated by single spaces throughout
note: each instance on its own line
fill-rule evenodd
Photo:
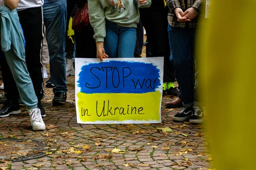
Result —
M 44 35 L 42 6 L 42 0 L 20 0 L 17 11 L 26 40 L 25 55 L 27 70 L 29 71 L 29 76 L 32 79 L 35 94 L 38 99 L 38 108 L 40 108 L 42 116 L 46 116 L 41 103 L 41 99 L 45 96 L 43 91 L 44 77 L 41 55 Z M 1 58 L 1 65 L 2 70 L 4 70 L 4 91 L 6 93 L 7 103 L 0 109 L 0 113 L 8 114 L 13 109 L 19 110 L 18 98 L 20 94 L 5 58 Z

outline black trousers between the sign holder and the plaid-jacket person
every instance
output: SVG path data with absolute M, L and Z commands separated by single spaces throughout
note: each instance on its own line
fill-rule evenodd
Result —
M 175 82 L 174 65 L 170 62 L 167 13 L 168 9 L 164 8 L 162 3 L 152 2 L 150 8 L 140 9 L 141 20 L 147 33 L 146 48 L 150 47 L 147 57 L 164 57 L 163 81 Z

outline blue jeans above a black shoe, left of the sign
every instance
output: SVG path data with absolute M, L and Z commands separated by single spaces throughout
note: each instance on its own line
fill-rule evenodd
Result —
M 67 1 L 44 0 L 44 23 L 50 58 L 53 93 L 67 92 L 65 31 L 67 24 Z

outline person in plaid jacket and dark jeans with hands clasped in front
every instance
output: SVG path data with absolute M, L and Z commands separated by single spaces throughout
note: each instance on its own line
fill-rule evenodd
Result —
M 175 65 L 175 77 L 180 86 L 181 98 L 184 108 L 172 120 L 190 123 L 204 121 L 204 108 L 199 99 L 198 74 L 194 74 L 195 63 L 195 33 L 198 27 L 198 14 L 201 10 L 202 0 L 167 0 L 169 6 L 168 31 L 172 58 Z M 195 56 L 195 58 L 194 58 Z M 195 90 L 196 87 L 196 90 Z

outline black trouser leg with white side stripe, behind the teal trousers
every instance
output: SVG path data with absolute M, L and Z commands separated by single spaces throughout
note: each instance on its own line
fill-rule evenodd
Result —
M 32 79 L 38 102 L 44 97 L 42 42 L 43 42 L 43 14 L 42 8 L 28 8 L 18 11 L 20 24 L 26 40 L 26 64 Z

